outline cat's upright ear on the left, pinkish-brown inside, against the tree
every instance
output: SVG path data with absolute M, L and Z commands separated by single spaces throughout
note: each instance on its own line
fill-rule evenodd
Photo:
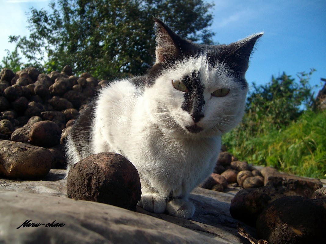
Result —
M 154 18 L 156 27 L 156 62 L 163 63 L 172 56 L 182 55 L 181 43 L 183 40 L 175 34 L 162 20 Z

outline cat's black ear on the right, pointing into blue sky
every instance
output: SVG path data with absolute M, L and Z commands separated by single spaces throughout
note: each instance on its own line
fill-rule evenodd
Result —
M 249 58 L 254 50 L 255 43 L 262 35 L 262 32 L 254 34 L 226 46 L 224 61 L 229 63 L 234 70 L 244 74 L 248 69 Z

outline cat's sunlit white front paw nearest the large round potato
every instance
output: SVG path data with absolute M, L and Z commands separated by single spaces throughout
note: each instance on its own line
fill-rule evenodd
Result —
M 163 197 L 157 193 L 145 193 L 141 195 L 138 205 L 144 210 L 154 213 L 163 213 L 165 211 L 166 202 Z

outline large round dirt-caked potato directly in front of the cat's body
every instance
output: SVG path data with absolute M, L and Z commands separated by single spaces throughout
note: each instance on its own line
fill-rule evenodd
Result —
M 69 170 L 67 196 L 135 211 L 141 199 L 138 171 L 120 154 L 93 154 Z

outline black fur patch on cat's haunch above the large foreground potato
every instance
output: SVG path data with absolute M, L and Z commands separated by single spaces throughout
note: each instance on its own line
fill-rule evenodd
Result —
M 95 102 L 90 103 L 87 108 L 82 111 L 71 128 L 71 139 L 74 142 L 79 154 L 85 152 L 88 154 L 93 153 L 89 151 L 89 147 L 84 147 L 83 145 L 90 145 L 92 142 L 92 128 L 94 127 L 93 119 L 95 117 L 95 106 Z

